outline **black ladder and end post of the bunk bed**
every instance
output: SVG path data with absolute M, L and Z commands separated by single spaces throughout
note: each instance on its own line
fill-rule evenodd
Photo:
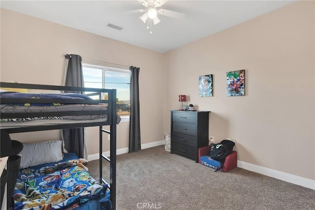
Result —
M 112 90 L 112 94 L 108 94 L 109 101 L 111 97 L 116 98 L 116 89 Z M 112 113 L 111 119 L 116 122 L 117 120 L 117 112 L 116 112 L 116 103 L 108 104 L 108 111 Z M 110 189 L 110 200 L 112 202 L 112 210 L 116 210 L 116 123 L 111 123 L 110 131 L 105 130 L 102 126 L 99 126 L 99 181 L 101 183 L 105 183 L 108 185 Z M 103 133 L 107 133 L 110 135 L 110 158 L 103 155 Z M 106 182 L 105 179 L 102 178 L 102 162 L 105 159 L 110 163 L 110 183 Z

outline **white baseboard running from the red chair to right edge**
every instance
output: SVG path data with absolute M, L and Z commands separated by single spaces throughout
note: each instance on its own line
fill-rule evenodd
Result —
M 315 190 L 315 180 L 287 174 L 238 160 L 237 167 Z

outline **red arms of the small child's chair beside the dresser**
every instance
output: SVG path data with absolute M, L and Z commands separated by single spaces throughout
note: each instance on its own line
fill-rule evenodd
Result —
M 201 164 L 201 161 L 200 161 L 201 156 L 205 156 L 205 155 L 209 155 L 209 154 L 210 154 L 210 146 L 198 148 L 199 163 Z M 221 172 L 227 172 L 227 171 L 230 171 L 236 167 L 237 167 L 237 152 L 232 151 L 232 153 L 229 154 L 225 158 L 225 162 L 224 162 L 223 167 L 221 168 Z

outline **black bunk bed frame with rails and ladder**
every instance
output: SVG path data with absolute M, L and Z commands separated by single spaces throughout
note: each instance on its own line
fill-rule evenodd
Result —
M 110 201 L 112 209 L 116 209 L 116 89 L 95 89 L 95 88 L 80 88 L 68 86 L 51 86 L 51 85 L 35 85 L 35 84 L 22 84 L 22 83 L 5 83 L 0 82 L 1 88 L 15 88 L 15 89 L 30 89 L 30 90 L 60 90 L 60 91 L 74 91 L 74 92 L 96 92 L 101 98 L 101 93 L 107 93 L 107 100 L 87 100 L 87 99 L 40 99 L 40 98 L 1 98 L 0 104 L 6 103 L 75 103 L 75 104 L 107 104 L 107 111 L 67 111 L 67 112 L 45 112 L 45 113 L 10 113 L 1 114 L 2 119 L 10 118 L 26 118 L 26 117 L 50 117 L 50 116 L 77 116 L 77 115 L 102 115 L 107 114 L 107 121 L 102 122 L 84 122 L 71 124 L 56 124 L 56 125 L 38 125 L 31 127 L 16 127 L 16 128 L 1 128 L 8 133 L 22 133 L 31 131 L 43 130 L 56 130 L 56 129 L 69 129 L 80 127 L 99 126 L 99 177 L 101 183 L 106 183 L 110 189 Z M 95 95 L 95 94 L 87 94 Z M 110 130 L 102 128 L 103 125 L 109 125 Z M 110 134 L 110 158 L 104 156 L 102 153 L 102 133 Z M 105 159 L 110 163 L 110 182 L 106 182 L 102 178 L 102 160 Z

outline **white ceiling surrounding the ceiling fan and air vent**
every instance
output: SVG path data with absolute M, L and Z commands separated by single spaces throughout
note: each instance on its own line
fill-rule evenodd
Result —
M 158 15 L 161 22 L 153 26 L 152 34 L 140 20 L 141 14 L 121 14 L 144 9 L 137 0 L 1 0 L 0 6 L 164 53 L 295 1 L 169 0 L 160 8 L 185 13 L 186 18 Z M 108 23 L 123 30 L 106 27 Z

